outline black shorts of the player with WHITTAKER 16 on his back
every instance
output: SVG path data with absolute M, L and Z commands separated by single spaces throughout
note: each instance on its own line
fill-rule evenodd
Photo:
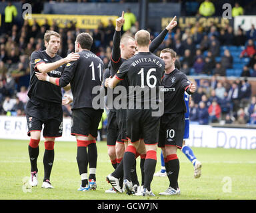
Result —
M 131 142 L 137 142 L 143 138 L 145 144 L 157 144 L 160 117 L 152 116 L 152 110 L 128 109 L 126 124 L 127 138 Z

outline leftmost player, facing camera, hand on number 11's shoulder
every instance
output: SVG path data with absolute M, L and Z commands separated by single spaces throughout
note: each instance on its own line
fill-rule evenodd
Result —
M 60 77 L 66 63 L 76 61 L 79 55 L 72 53 L 65 59 L 57 55 L 61 38 L 55 31 L 46 31 L 44 35 L 45 51 L 34 51 L 31 54 L 29 101 L 25 113 L 27 117 L 27 134 L 31 136 L 29 142 L 29 158 L 31 163 L 31 176 L 29 184 L 37 186 L 39 156 L 39 142 L 42 125 L 43 137 L 45 138 L 45 153 L 43 156 L 44 178 L 42 188 L 53 188 L 50 175 L 54 160 L 55 138 L 62 135 L 63 112 L 61 107 L 61 88 L 49 83 L 38 81 L 35 71 L 48 73 L 51 77 Z

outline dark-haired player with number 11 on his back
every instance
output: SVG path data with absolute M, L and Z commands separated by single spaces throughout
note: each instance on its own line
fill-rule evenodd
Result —
M 80 33 L 75 41 L 75 51 L 79 52 L 78 61 L 68 63 L 60 78 L 36 73 L 37 78 L 59 87 L 71 84 L 73 93 L 71 134 L 77 138 L 77 164 L 81 176 L 80 191 L 95 190 L 97 166 L 97 128 L 103 113 L 92 105 L 93 87 L 101 86 L 103 61 L 90 51 L 93 38 L 88 33 Z M 87 152 L 88 148 L 88 152 Z M 87 166 L 89 163 L 89 177 Z M 89 180 L 89 181 L 88 181 Z

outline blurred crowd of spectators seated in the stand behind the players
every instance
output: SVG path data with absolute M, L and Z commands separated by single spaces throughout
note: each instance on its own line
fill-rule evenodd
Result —
M 85 31 L 94 39 L 91 51 L 103 59 L 105 67 L 109 64 L 115 32 L 112 21 L 109 21 L 107 26 L 101 24 L 94 30 L 81 30 L 75 25 L 62 29 L 55 24 L 50 26 L 47 20 L 41 26 L 36 22 L 29 25 L 28 21 L 24 21 L 21 27 L 13 24 L 9 31 L 0 35 L 0 114 L 25 114 L 30 55 L 33 51 L 44 49 L 43 35 L 48 29 L 61 35 L 61 57 L 74 51 L 76 36 Z M 133 36 L 138 29 L 138 23 L 135 21 L 124 33 Z M 151 31 L 151 39 L 154 39 L 157 33 L 159 32 Z M 229 25 L 218 28 L 214 23 L 209 27 L 202 27 L 199 23 L 185 29 L 178 26 L 165 37 L 155 51 L 156 55 L 159 55 L 161 49 L 169 47 L 177 52 L 181 71 L 190 75 L 191 69 L 194 69 L 196 75 L 211 77 L 210 80 L 208 78 L 196 81 L 198 89 L 191 97 L 191 121 L 199 124 L 221 120 L 226 124 L 256 124 L 256 97 L 252 97 L 251 85 L 247 81 L 251 76 L 256 77 L 255 41 L 256 30 L 253 25 L 249 31 L 245 32 L 240 28 L 234 32 L 233 27 Z M 216 63 L 215 59 L 220 56 L 220 48 L 223 45 L 245 47 L 240 57 L 248 57 L 249 63 L 243 67 L 241 76 L 247 79 L 229 81 L 225 77 L 226 69 L 233 67 L 234 58 L 227 49 L 221 56 L 221 61 Z M 254 70 L 252 74 L 250 69 Z M 217 76 L 224 78 L 217 80 Z M 64 116 L 70 116 L 71 107 L 63 107 L 63 112 Z

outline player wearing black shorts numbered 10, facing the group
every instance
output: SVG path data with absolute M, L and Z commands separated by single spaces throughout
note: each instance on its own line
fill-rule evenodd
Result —
M 165 158 L 165 168 L 169 178 L 169 187 L 161 195 L 180 194 L 178 187 L 179 159 L 177 148 L 182 148 L 185 127 L 186 106 L 184 92 L 195 93 L 196 88 L 184 73 L 175 69 L 176 53 L 172 49 L 163 49 L 160 53 L 165 61 L 165 75 L 161 81 L 165 100 L 165 112 L 161 116 L 159 143 Z

